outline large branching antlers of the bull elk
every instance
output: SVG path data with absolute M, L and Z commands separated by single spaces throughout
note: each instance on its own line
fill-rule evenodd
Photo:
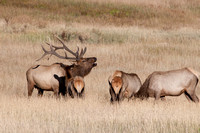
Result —
M 58 46 L 54 46 L 54 45 L 51 45 L 50 43 L 47 43 L 47 45 L 50 46 L 50 51 L 47 51 L 42 45 L 42 50 L 44 51 L 44 54 L 42 55 L 42 57 L 40 57 L 39 59 L 37 59 L 36 61 L 39 61 L 41 60 L 43 57 L 45 57 L 46 55 L 50 55 L 50 57 L 52 55 L 55 55 L 57 56 L 58 58 L 61 58 L 61 59 L 72 59 L 72 60 L 80 60 L 81 58 L 83 58 L 83 55 L 85 54 L 87 48 L 85 47 L 84 49 L 82 48 L 81 49 L 81 52 L 79 53 L 79 47 L 77 48 L 77 51 L 74 53 L 73 51 L 71 51 L 66 45 L 65 43 L 57 36 L 55 36 L 59 42 L 62 43 L 62 47 L 58 47 Z M 59 55 L 56 50 L 59 50 L 59 49 L 64 49 L 65 51 L 69 52 L 70 54 L 72 54 L 73 56 L 75 57 L 68 57 L 67 56 L 67 53 L 65 52 L 65 56 L 62 56 L 62 55 Z

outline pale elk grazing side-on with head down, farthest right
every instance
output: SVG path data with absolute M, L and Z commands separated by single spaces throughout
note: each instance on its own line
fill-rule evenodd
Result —
M 155 97 L 155 100 L 158 100 L 165 96 L 179 96 L 184 93 L 188 100 L 199 102 L 195 94 L 198 76 L 198 72 L 191 68 L 153 72 L 135 97 L 141 99 Z

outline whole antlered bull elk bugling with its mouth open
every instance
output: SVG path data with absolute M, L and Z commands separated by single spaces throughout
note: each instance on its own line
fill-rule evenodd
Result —
M 46 43 L 48 46 L 50 46 L 50 51 L 47 51 L 42 46 L 44 54 L 40 59 L 42 59 L 46 55 L 55 55 L 58 58 L 71 60 L 75 63 L 72 65 L 55 63 L 49 66 L 37 65 L 29 68 L 26 72 L 28 83 L 28 96 L 32 95 L 34 88 L 38 89 L 38 95 L 40 96 L 43 95 L 43 91 L 54 91 L 54 94 L 56 96 L 58 96 L 59 93 L 65 95 L 65 87 L 68 85 L 68 80 L 74 78 L 75 76 L 84 77 L 88 75 L 92 68 L 97 65 L 96 57 L 83 58 L 83 55 L 87 50 L 86 48 L 81 49 L 80 52 L 78 48 L 76 52 L 73 52 L 64 44 L 64 42 L 60 38 L 57 37 L 57 39 L 59 42 L 61 42 L 63 46 L 58 47 Z M 65 56 L 58 54 L 56 50 L 59 49 L 69 52 L 74 57 L 68 57 L 66 52 Z

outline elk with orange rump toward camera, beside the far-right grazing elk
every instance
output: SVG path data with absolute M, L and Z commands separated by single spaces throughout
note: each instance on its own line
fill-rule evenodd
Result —
M 121 101 L 124 98 L 130 99 L 141 87 L 141 81 L 137 74 L 122 71 L 115 71 L 109 77 L 108 83 L 110 85 L 111 102 Z

